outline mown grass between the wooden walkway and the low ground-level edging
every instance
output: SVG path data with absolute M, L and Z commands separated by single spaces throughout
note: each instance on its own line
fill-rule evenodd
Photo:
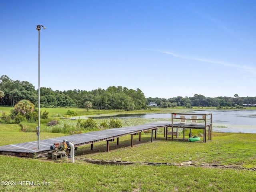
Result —
M 163 135 L 152 143 L 150 141 L 150 135 L 142 135 L 141 142 L 138 136 L 134 136 L 135 146 L 131 148 L 130 136 L 126 136 L 120 138 L 120 146 L 111 142 L 111 153 L 105 153 L 104 142 L 94 144 L 94 151 L 90 150 L 90 146 L 83 146 L 76 153 L 81 158 L 102 160 L 256 167 L 255 134 L 213 133 L 212 140 L 206 143 L 202 138 L 199 142 L 188 142 L 181 137 L 173 141 L 168 138 L 166 141 Z

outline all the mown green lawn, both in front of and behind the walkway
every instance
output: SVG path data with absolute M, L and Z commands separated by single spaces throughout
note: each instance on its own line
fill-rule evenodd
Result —
M 139 122 L 136 122 L 138 124 Z M 158 132 L 161 133 L 161 132 Z M 64 134 L 41 133 L 41 139 L 64 136 Z M 183 141 L 158 134 L 150 142 L 150 134 L 142 134 L 142 141 L 134 136 L 120 138 L 120 145 L 106 142 L 81 146 L 76 151 L 75 163 L 71 160 L 46 160 L 45 158 L 19 158 L 0 155 L 0 191 L 74 191 L 74 192 L 251 192 L 256 189 L 256 172 L 228 168 L 197 166 L 147 166 L 97 165 L 84 158 L 123 160 L 133 162 L 168 162 L 185 164 L 234 165 L 244 168 L 256 166 L 256 135 L 213 133 L 211 141 L 203 143 Z M 20 126 L 0 124 L 0 145 L 36 140 L 35 133 L 21 132 Z M 79 158 L 79 159 L 77 159 Z

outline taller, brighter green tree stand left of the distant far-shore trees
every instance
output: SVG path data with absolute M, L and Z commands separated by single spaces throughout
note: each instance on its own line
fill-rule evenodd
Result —
M 0 105 L 14 106 L 20 100 L 28 100 L 38 105 L 38 90 L 27 81 L 12 80 L 6 75 L 0 77 Z M 40 88 L 40 106 L 45 108 L 71 107 L 105 110 L 139 110 L 147 108 L 144 93 L 137 88 L 110 86 L 106 90 L 98 88 L 84 90 L 52 90 Z

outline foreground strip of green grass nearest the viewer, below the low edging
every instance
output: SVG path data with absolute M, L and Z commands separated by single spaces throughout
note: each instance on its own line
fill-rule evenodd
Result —
M 256 175 L 251 171 L 176 166 L 109 166 L 40 161 L 0 156 L 1 180 L 14 181 L 1 191 L 73 192 L 166 192 L 255 190 Z M 36 185 L 24 184 L 31 181 Z M 22 182 L 24 185 L 19 185 Z

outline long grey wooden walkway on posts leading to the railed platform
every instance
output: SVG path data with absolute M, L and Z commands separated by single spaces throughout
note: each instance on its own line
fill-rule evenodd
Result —
M 139 140 L 141 136 L 141 132 L 152 130 L 151 134 L 151 142 L 153 141 L 153 131 L 155 130 L 155 138 L 156 138 L 156 130 L 162 127 L 170 126 L 172 122 L 170 121 L 158 121 L 152 122 L 148 124 L 138 125 L 138 126 L 130 126 L 130 127 L 122 127 L 122 128 L 112 128 L 101 131 L 87 132 L 76 135 L 68 135 L 57 138 L 50 138 L 40 140 L 40 149 L 38 149 L 38 142 L 31 141 L 19 144 L 11 144 L 0 146 L 0 154 L 8 154 L 13 156 L 26 156 L 31 157 L 38 154 L 46 154 L 50 151 L 50 146 L 54 143 L 61 143 L 63 140 L 68 140 L 74 143 L 74 147 L 83 146 L 87 144 L 91 144 L 91 149 L 93 150 L 93 144 L 97 142 L 107 141 L 107 152 L 109 151 L 109 142 L 113 141 L 115 138 L 117 139 L 117 145 L 119 144 L 119 138 L 126 135 L 131 135 L 131 146 L 133 146 L 133 136 L 134 134 L 139 134 Z

